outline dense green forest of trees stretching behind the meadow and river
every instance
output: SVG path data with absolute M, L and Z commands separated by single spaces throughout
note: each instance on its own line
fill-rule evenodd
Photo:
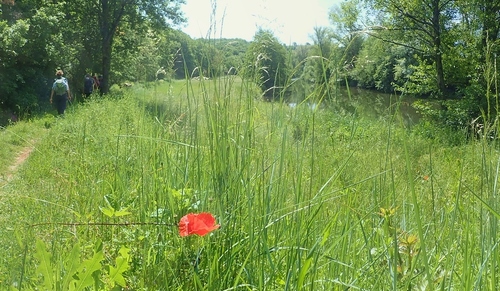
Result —
M 332 88 L 349 85 L 432 100 L 439 110 L 415 106 L 442 124 L 495 123 L 500 0 L 346 0 L 325 11 L 330 27 L 300 45 L 267 30 L 251 42 L 192 39 L 181 31 L 182 4 L 2 0 L 0 107 L 44 110 L 61 68 L 76 92 L 86 73 L 103 76 L 103 94 L 124 83 L 239 74 L 267 99 L 334 98 Z

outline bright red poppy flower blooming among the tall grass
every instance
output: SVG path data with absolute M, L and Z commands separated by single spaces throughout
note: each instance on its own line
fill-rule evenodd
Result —
M 180 236 L 188 236 L 191 234 L 204 236 L 218 229 L 219 226 L 220 225 L 215 224 L 215 218 L 210 213 L 190 213 L 181 218 L 179 222 L 179 234 Z

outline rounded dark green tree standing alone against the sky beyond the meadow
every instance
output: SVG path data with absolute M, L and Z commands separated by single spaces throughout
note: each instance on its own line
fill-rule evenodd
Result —
M 272 32 L 260 29 L 246 54 L 245 74 L 256 80 L 267 99 L 280 99 L 289 78 L 287 51 Z

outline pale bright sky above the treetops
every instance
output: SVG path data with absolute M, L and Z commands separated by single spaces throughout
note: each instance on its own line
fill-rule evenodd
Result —
M 181 9 L 187 25 L 181 30 L 192 38 L 251 41 L 263 28 L 287 45 L 312 43 L 314 27 L 330 26 L 328 12 L 338 3 L 340 0 L 186 0 Z

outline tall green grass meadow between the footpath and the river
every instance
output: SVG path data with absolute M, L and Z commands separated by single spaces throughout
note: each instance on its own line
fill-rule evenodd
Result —
M 135 85 L 0 137 L 2 172 L 35 145 L 0 183 L 1 290 L 500 286 L 486 140 L 264 102 L 236 77 Z M 198 212 L 220 228 L 180 237 Z

